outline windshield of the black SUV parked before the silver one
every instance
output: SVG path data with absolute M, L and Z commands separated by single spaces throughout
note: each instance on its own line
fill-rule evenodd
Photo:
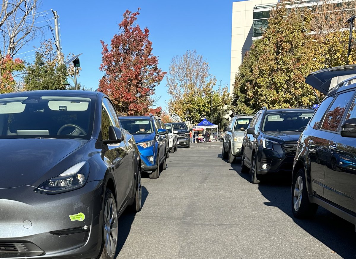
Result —
M 303 131 L 312 116 L 313 112 L 267 113 L 263 120 L 262 131 Z

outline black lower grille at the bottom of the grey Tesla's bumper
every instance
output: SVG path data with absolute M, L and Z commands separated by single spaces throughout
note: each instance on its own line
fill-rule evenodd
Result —
M 0 258 L 31 257 L 44 254 L 45 252 L 32 243 L 0 243 Z

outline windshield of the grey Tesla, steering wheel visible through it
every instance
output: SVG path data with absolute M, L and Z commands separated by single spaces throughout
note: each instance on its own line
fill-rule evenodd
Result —
M 67 96 L 0 98 L 0 138 L 89 139 L 90 104 L 90 98 Z

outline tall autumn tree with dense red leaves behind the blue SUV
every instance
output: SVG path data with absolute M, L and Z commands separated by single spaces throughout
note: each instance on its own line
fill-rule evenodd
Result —
M 136 24 L 137 12 L 126 10 L 110 47 L 104 41 L 100 70 L 105 72 L 99 90 L 109 95 L 120 114 L 157 114 L 162 108 L 151 109 L 152 95 L 166 72 L 158 68 L 158 58 L 152 54 L 150 31 Z

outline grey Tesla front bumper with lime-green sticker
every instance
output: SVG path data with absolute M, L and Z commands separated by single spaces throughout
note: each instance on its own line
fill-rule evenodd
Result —
M 0 258 L 96 258 L 103 182 L 55 195 L 0 189 Z

